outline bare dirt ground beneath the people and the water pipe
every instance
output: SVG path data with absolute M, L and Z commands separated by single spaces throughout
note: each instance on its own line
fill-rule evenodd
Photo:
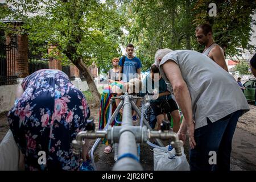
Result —
M 91 116 L 94 117 L 96 129 L 98 127 L 98 108 L 92 107 L 89 103 Z M 237 129 L 233 138 L 233 150 L 231 158 L 232 170 L 256 170 L 256 106 L 249 105 L 250 111 L 240 117 Z M 0 114 L 0 142 L 9 130 L 7 123 L 7 113 Z M 91 146 L 94 140 L 91 140 Z M 94 160 L 98 170 L 111 170 L 114 166 L 114 152 L 105 154 L 104 144 L 100 144 L 94 154 Z M 188 156 L 188 144 L 185 148 L 185 154 Z M 154 170 L 153 153 L 149 150 L 147 144 L 141 145 L 141 164 L 145 170 Z

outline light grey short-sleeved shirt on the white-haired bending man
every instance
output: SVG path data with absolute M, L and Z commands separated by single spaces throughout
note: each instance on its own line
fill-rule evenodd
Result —
M 215 122 L 234 111 L 250 110 L 233 76 L 209 57 L 196 51 L 172 51 L 160 62 L 160 74 L 171 93 L 173 93 L 172 85 L 162 67 L 168 60 L 174 61 L 179 66 L 183 80 L 188 86 L 195 129 L 206 126 L 207 118 Z

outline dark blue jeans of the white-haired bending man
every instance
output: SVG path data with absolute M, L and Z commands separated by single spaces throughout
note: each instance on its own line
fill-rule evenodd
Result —
M 190 150 L 189 166 L 191 171 L 229 171 L 230 154 L 232 150 L 232 139 L 236 130 L 238 118 L 242 115 L 242 110 L 235 111 L 232 114 L 212 123 L 207 118 L 207 126 L 195 130 L 196 146 Z M 213 154 L 216 152 L 217 164 L 212 162 Z

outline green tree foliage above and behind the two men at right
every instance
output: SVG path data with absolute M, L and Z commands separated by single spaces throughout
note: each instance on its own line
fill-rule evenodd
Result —
M 250 1 L 212 0 L 134 0 L 125 1 L 129 35 L 128 42 L 137 47 L 137 55 L 143 60 L 143 69 L 150 67 L 154 53 L 159 48 L 193 49 L 202 52 L 196 42 L 195 28 L 200 23 L 213 27 L 216 43 L 227 47 L 227 56 L 240 55 L 239 48 L 253 51 L 249 44 L 252 16 L 256 3 Z M 209 16 L 209 4 L 216 3 L 217 16 Z

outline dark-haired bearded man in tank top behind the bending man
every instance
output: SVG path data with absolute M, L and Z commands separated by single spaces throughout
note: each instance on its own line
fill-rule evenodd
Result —
M 214 43 L 212 27 L 210 27 L 209 24 L 203 23 L 196 27 L 196 39 L 197 42 L 205 46 L 203 54 L 210 57 L 210 59 L 228 72 L 224 51 L 218 44 Z

